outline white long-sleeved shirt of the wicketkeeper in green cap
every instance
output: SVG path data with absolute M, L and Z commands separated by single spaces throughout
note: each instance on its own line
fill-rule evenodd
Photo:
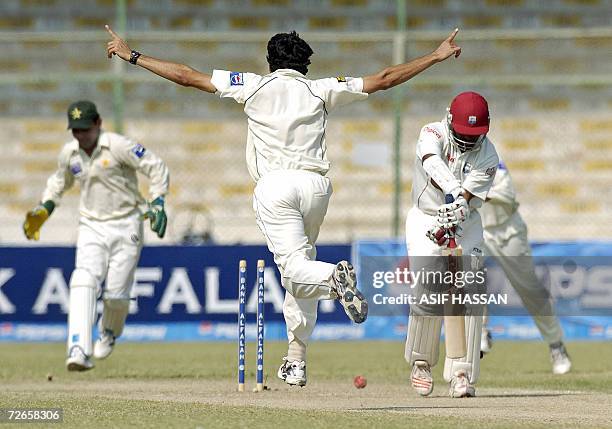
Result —
M 58 169 L 47 180 L 42 201 L 59 204 L 64 191 L 78 181 L 82 216 L 99 221 L 121 218 L 145 203 L 138 190 L 137 171 L 150 179 L 151 198 L 168 192 L 168 167 L 142 145 L 102 131 L 98 145 L 88 156 L 74 139 L 62 148 Z

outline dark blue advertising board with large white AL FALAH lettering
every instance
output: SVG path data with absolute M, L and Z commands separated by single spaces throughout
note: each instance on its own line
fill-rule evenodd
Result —
M 350 246 L 318 246 L 318 259 L 348 259 Z M 63 340 L 75 249 L 0 248 L 0 340 Z M 143 340 L 233 339 L 236 335 L 238 262 L 247 260 L 247 317 L 257 307 L 256 266 L 264 259 L 267 338 L 286 338 L 285 290 L 265 246 L 145 247 L 136 270 L 125 337 Z M 103 286 L 102 286 L 103 287 Z M 101 310 L 101 302 L 98 302 Z M 319 321 L 347 318 L 334 301 L 322 302 Z M 330 325 L 330 326 L 333 326 Z M 247 327 L 247 334 L 255 326 Z M 350 336 L 350 332 L 339 335 Z M 319 335 L 319 334 L 317 334 Z M 320 335 L 329 335 L 323 329 Z

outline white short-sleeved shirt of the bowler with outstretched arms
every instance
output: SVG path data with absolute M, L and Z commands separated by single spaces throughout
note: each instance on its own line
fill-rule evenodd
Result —
M 329 170 L 325 126 L 336 107 L 363 100 L 363 79 L 307 79 L 291 69 L 265 76 L 215 70 L 212 83 L 220 97 L 244 104 L 248 117 L 246 158 L 257 181 L 270 171 Z

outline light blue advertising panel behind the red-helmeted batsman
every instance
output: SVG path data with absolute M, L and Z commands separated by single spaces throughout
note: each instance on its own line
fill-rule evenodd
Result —
M 404 240 L 362 240 L 353 245 L 352 256 L 358 282 L 368 294 L 387 272 L 408 267 Z M 536 274 L 555 302 L 566 338 L 609 340 L 612 338 L 612 243 L 536 242 L 532 244 Z M 489 305 L 489 326 L 496 338 L 539 339 L 540 334 L 523 308 L 501 267 L 487 261 L 488 292 L 507 296 L 502 306 Z M 374 286 L 376 287 L 376 286 Z M 407 305 L 401 310 L 369 320 L 369 332 L 380 325 L 379 338 L 405 337 Z M 402 313 L 400 316 L 399 313 Z M 379 320 L 376 320 L 379 319 Z M 388 329 L 383 330 L 383 326 Z

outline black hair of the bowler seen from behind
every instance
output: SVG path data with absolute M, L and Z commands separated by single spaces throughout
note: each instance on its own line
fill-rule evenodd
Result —
M 270 71 L 293 69 L 302 74 L 308 73 L 312 48 L 295 31 L 278 33 L 268 42 L 268 64 Z

